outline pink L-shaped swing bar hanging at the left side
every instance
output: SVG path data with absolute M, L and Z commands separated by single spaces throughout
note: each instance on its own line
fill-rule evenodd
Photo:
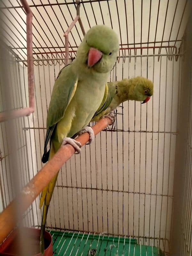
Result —
M 32 53 L 32 18 L 33 14 L 26 0 L 20 0 L 23 8 L 27 13 L 27 63 L 28 63 L 28 92 L 29 92 L 29 107 L 18 110 L 5 111 L 0 113 L 0 122 L 8 119 L 17 118 L 20 116 L 29 116 L 34 112 L 34 81 L 33 81 L 33 53 Z

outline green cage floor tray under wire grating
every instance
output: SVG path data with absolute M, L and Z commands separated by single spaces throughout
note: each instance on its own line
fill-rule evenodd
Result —
M 137 244 L 137 240 L 132 238 L 70 231 L 50 233 L 55 256 L 164 256 L 161 249 Z

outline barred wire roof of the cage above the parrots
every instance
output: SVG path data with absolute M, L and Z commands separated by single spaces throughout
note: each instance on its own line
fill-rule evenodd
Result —
M 65 42 L 62 35 L 76 16 L 75 0 L 65 0 L 64 2 L 31 0 L 28 3 L 34 14 L 34 59 L 65 58 Z M 147 3 L 143 0 L 93 0 L 80 1 L 80 3 L 82 5 L 82 22 L 86 31 L 91 26 L 100 23 L 118 31 L 120 55 L 178 53 L 190 13 L 190 1 L 188 0 L 172 2 L 159 0 Z M 5 41 L 21 59 L 26 59 L 26 32 L 24 29 L 26 21 L 23 18 L 25 13 L 20 1 L 2 1 L 1 5 L 2 21 L 6 26 L 4 29 Z M 144 23 L 146 26 L 142 25 Z M 125 26 L 123 26 L 124 24 Z M 12 34 L 11 37 L 9 32 Z M 82 37 L 83 33 L 76 24 L 69 37 L 71 58 L 75 57 Z M 131 42 L 129 38 L 132 39 Z M 164 52 L 162 52 L 163 49 Z

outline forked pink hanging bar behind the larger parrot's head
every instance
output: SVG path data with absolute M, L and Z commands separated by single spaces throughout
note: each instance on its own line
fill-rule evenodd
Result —
M 76 13 L 77 16 L 76 18 L 73 20 L 73 22 L 71 23 L 71 25 L 68 27 L 68 29 L 66 30 L 64 36 L 65 36 L 65 65 L 67 65 L 69 63 L 69 39 L 68 39 L 68 34 L 71 31 L 71 29 L 75 26 L 77 20 L 79 21 L 79 25 L 80 28 L 82 30 L 83 35 L 85 35 L 85 30 L 80 18 L 80 3 L 79 0 L 76 0 L 76 4 L 77 4 L 77 8 L 76 8 Z

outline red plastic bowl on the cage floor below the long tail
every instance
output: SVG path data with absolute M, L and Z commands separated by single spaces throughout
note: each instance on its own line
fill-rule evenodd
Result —
M 22 228 L 22 245 L 27 248 L 27 254 L 31 256 L 41 256 L 39 250 L 39 240 L 40 240 L 40 229 L 36 228 Z M 25 237 L 28 239 L 25 240 Z M 52 246 L 52 236 L 49 232 L 45 231 L 44 233 L 44 244 L 45 252 L 44 256 L 53 255 L 53 246 Z M 11 235 L 5 240 L 3 244 L 0 245 L 0 256 L 19 256 L 19 247 L 18 242 L 18 229 L 13 230 Z M 29 254 L 30 252 L 30 254 Z

